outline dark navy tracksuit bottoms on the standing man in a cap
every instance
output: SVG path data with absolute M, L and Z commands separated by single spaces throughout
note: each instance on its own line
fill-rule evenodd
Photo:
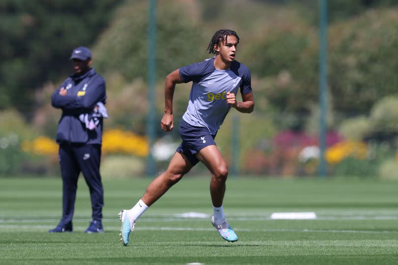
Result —
M 99 144 L 60 144 L 59 164 L 63 181 L 62 219 L 63 225 L 72 222 L 75 210 L 77 182 L 80 172 L 90 191 L 92 219 L 102 220 L 104 190 L 99 172 L 101 145 Z

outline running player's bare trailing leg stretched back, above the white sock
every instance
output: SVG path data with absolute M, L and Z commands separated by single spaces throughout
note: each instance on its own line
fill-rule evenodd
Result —
M 141 200 L 147 206 L 151 206 L 191 169 L 192 165 L 185 155 L 176 152 L 171 158 L 168 169 L 149 184 Z

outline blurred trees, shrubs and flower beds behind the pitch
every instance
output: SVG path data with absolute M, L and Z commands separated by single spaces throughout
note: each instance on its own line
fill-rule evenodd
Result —
M 328 143 L 329 154 L 334 154 L 328 171 L 386 176 L 398 170 L 391 162 L 396 161 L 398 129 L 398 0 L 328 2 L 327 126 L 330 137 L 337 139 Z M 234 29 L 241 39 L 237 60 L 252 72 L 256 108 L 251 115 L 229 114 L 217 135 L 218 146 L 231 163 L 231 117 L 237 117 L 242 174 L 316 175 L 317 4 L 157 1 L 157 120 L 164 111 L 166 75 L 211 57 L 206 48 L 212 34 Z M 104 134 L 104 168 L 109 171 L 115 163 L 120 168 L 130 157 L 134 163 L 125 162 L 126 170 L 120 170 L 125 173 L 115 176 L 143 174 L 148 152 L 147 1 L 2 0 L 0 14 L 0 156 L 11 161 L 0 165 L 0 173 L 57 172 L 57 147 L 43 140 L 54 139 L 60 117 L 50 96 L 71 73 L 72 49 L 85 45 L 107 81 L 110 118 L 105 120 L 109 137 Z M 168 139 L 169 149 L 180 141 L 177 128 L 190 86 L 176 88 L 176 129 L 166 134 L 157 126 L 158 141 Z M 33 148 L 39 140 L 42 148 L 55 149 L 53 156 Z M 159 171 L 166 165 L 162 161 Z

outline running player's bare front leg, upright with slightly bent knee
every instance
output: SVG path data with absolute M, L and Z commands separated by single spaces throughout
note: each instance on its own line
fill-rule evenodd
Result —
M 227 163 L 225 162 L 217 146 L 207 146 L 201 149 L 197 155 L 211 173 L 210 195 L 213 206 L 223 205 L 223 199 L 228 177 Z

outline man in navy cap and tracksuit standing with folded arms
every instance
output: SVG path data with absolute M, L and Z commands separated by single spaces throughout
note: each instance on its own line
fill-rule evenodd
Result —
M 107 118 L 105 80 L 91 68 L 91 51 L 78 47 L 70 57 L 74 73 L 52 95 L 62 110 L 57 143 L 62 176 L 62 218 L 50 233 L 72 232 L 80 172 L 90 191 L 92 221 L 85 233 L 102 233 L 104 191 L 100 175 L 103 118 Z

